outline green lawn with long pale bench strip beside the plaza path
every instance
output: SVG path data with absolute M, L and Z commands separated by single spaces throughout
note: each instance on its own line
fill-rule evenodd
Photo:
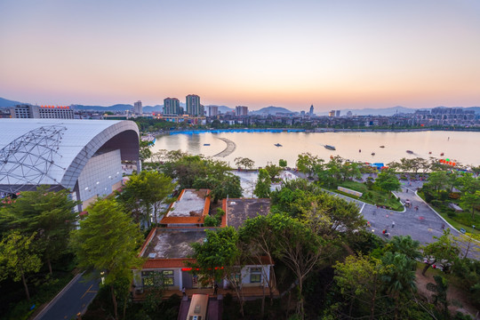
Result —
M 379 204 L 388 207 L 392 211 L 403 211 L 404 206 L 401 204 L 395 196 L 391 193 L 387 193 L 382 190 L 370 190 L 364 183 L 357 181 L 342 181 L 339 184 L 340 187 L 349 188 L 358 192 L 362 192 L 363 196 L 360 198 L 340 192 L 338 189 L 332 189 L 332 191 L 340 193 L 345 196 L 351 196 L 353 198 L 364 201 L 368 204 Z

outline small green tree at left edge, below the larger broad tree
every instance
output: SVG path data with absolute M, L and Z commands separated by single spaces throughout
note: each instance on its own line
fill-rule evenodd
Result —
M 12 276 L 13 281 L 20 281 L 25 288 L 27 300 L 30 300 L 26 275 L 30 272 L 38 272 L 42 267 L 42 261 L 36 255 L 34 239 L 36 234 L 22 236 L 19 231 L 4 236 L 0 243 L 0 280 L 6 276 Z

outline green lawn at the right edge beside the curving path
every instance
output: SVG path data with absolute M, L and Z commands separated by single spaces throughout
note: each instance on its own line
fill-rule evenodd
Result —
M 425 196 L 423 195 L 422 192 L 418 192 L 418 195 L 425 200 Z M 458 201 L 453 201 L 452 199 L 449 199 L 449 201 L 444 201 L 442 204 L 440 202 L 432 202 L 429 203 L 432 208 L 435 209 L 436 212 L 438 212 L 444 220 L 447 220 L 448 223 L 450 223 L 454 228 L 460 230 L 460 228 L 464 228 L 467 230 L 468 233 L 473 233 L 474 235 L 480 235 L 480 214 L 476 211 L 475 218 L 473 222 L 470 223 L 465 223 L 465 221 L 471 221 L 471 212 L 452 212 L 452 209 L 450 209 L 447 205 L 448 203 L 458 203 Z M 436 205 L 440 204 L 440 205 Z M 476 228 L 473 229 L 472 225 L 475 225 Z

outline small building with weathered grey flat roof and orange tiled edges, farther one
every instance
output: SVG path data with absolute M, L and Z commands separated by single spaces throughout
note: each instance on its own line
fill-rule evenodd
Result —
M 200 227 L 204 225 L 209 210 L 209 189 L 183 189 L 160 223 L 167 227 Z

